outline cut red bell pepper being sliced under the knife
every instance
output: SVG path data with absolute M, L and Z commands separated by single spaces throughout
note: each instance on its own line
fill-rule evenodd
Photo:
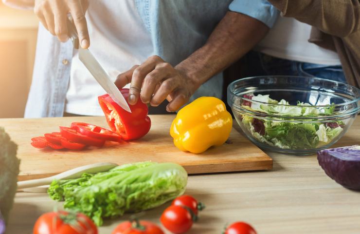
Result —
M 120 92 L 127 100 L 129 89 L 121 89 Z M 129 105 L 131 113 L 121 108 L 108 94 L 98 99 L 110 129 L 124 140 L 138 139 L 149 132 L 151 120 L 147 116 L 148 108 L 140 98 L 135 105 Z

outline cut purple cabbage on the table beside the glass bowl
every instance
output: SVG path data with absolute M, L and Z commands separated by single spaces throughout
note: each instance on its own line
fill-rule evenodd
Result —
M 327 176 L 345 188 L 360 190 L 360 146 L 318 152 L 318 161 Z

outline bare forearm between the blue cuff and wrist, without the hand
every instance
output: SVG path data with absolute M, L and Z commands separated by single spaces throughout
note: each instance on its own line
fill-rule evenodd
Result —
M 200 86 L 244 56 L 268 31 L 269 27 L 264 23 L 229 11 L 205 45 L 175 68 Z

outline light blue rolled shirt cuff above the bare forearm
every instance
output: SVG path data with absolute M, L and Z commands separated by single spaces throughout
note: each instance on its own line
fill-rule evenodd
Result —
M 274 26 L 280 13 L 267 0 L 233 0 L 229 5 L 229 10 L 259 20 L 269 28 Z

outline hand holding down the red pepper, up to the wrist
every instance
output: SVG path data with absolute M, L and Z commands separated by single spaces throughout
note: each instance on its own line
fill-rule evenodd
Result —
M 151 106 L 158 106 L 167 99 L 170 102 L 166 106 L 168 112 L 180 109 L 200 86 L 186 71 L 173 67 L 159 56 L 151 56 L 143 64 L 133 66 L 115 81 L 118 88 L 128 83 L 131 83 L 130 105 L 134 105 L 139 97 Z

